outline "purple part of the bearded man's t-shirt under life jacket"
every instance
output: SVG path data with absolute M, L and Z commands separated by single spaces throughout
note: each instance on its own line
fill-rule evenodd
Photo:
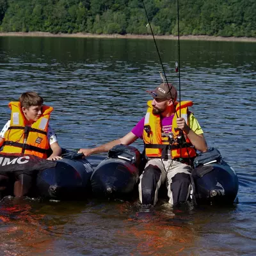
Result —
M 173 116 L 174 115 L 161 118 L 163 132 L 172 132 Z M 143 139 L 144 122 L 145 122 L 145 116 L 138 122 L 138 124 L 134 126 L 134 128 L 131 131 L 135 136 L 141 139 Z

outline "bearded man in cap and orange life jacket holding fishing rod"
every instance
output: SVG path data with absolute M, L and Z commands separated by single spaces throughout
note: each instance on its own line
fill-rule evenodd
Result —
M 115 145 L 130 145 L 141 138 L 148 162 L 140 175 L 140 202 L 155 205 L 164 182 L 171 205 L 186 202 L 191 199 L 190 173 L 196 150 L 207 151 L 204 132 L 188 110 L 193 102 L 177 102 L 177 90 L 172 84 L 162 83 L 147 92 L 153 100 L 148 101 L 145 117 L 131 132 L 96 148 L 81 148 L 79 152 L 84 156 L 108 152 Z

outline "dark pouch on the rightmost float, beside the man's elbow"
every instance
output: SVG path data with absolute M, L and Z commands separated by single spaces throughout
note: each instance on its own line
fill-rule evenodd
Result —
M 206 152 L 198 154 L 193 161 L 194 167 L 210 163 L 221 163 L 222 156 L 217 148 L 209 148 Z

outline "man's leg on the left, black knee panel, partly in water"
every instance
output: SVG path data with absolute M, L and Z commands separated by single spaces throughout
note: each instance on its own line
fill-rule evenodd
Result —
M 141 204 L 155 205 L 158 198 L 158 190 L 163 180 L 161 170 L 149 164 L 140 175 L 139 195 Z M 165 179 L 165 178 L 164 178 Z

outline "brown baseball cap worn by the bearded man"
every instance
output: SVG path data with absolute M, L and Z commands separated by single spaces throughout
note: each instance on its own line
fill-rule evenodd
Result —
M 171 83 L 162 83 L 154 91 L 147 91 L 154 99 L 177 100 L 177 90 Z

